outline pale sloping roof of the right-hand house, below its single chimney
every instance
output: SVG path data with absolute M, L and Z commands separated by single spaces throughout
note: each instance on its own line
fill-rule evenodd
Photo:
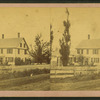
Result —
M 76 47 L 76 49 L 78 48 L 100 48 L 100 39 L 83 40 Z

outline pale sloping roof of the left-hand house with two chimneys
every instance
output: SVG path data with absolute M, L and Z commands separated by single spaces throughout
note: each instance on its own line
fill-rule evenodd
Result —
M 16 48 L 24 38 L 0 39 L 0 48 Z M 25 39 L 24 39 L 25 41 Z

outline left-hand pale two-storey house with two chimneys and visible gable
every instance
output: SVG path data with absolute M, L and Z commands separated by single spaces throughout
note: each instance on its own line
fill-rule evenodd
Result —
M 18 33 L 18 38 L 4 38 L 2 34 L 2 39 L 0 39 L 0 64 L 8 63 L 15 65 L 15 59 L 20 58 L 25 61 L 29 57 L 29 47 L 25 38 L 20 37 Z

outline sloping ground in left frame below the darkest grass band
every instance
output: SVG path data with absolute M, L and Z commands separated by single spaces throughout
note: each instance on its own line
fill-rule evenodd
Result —
M 0 90 L 50 90 L 50 75 L 40 74 L 0 81 Z

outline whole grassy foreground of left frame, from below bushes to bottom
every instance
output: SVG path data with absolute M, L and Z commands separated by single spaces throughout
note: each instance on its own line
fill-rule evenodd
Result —
M 50 90 L 50 69 L 40 67 L 16 66 L 13 70 L 3 67 L 0 69 L 0 90 Z

